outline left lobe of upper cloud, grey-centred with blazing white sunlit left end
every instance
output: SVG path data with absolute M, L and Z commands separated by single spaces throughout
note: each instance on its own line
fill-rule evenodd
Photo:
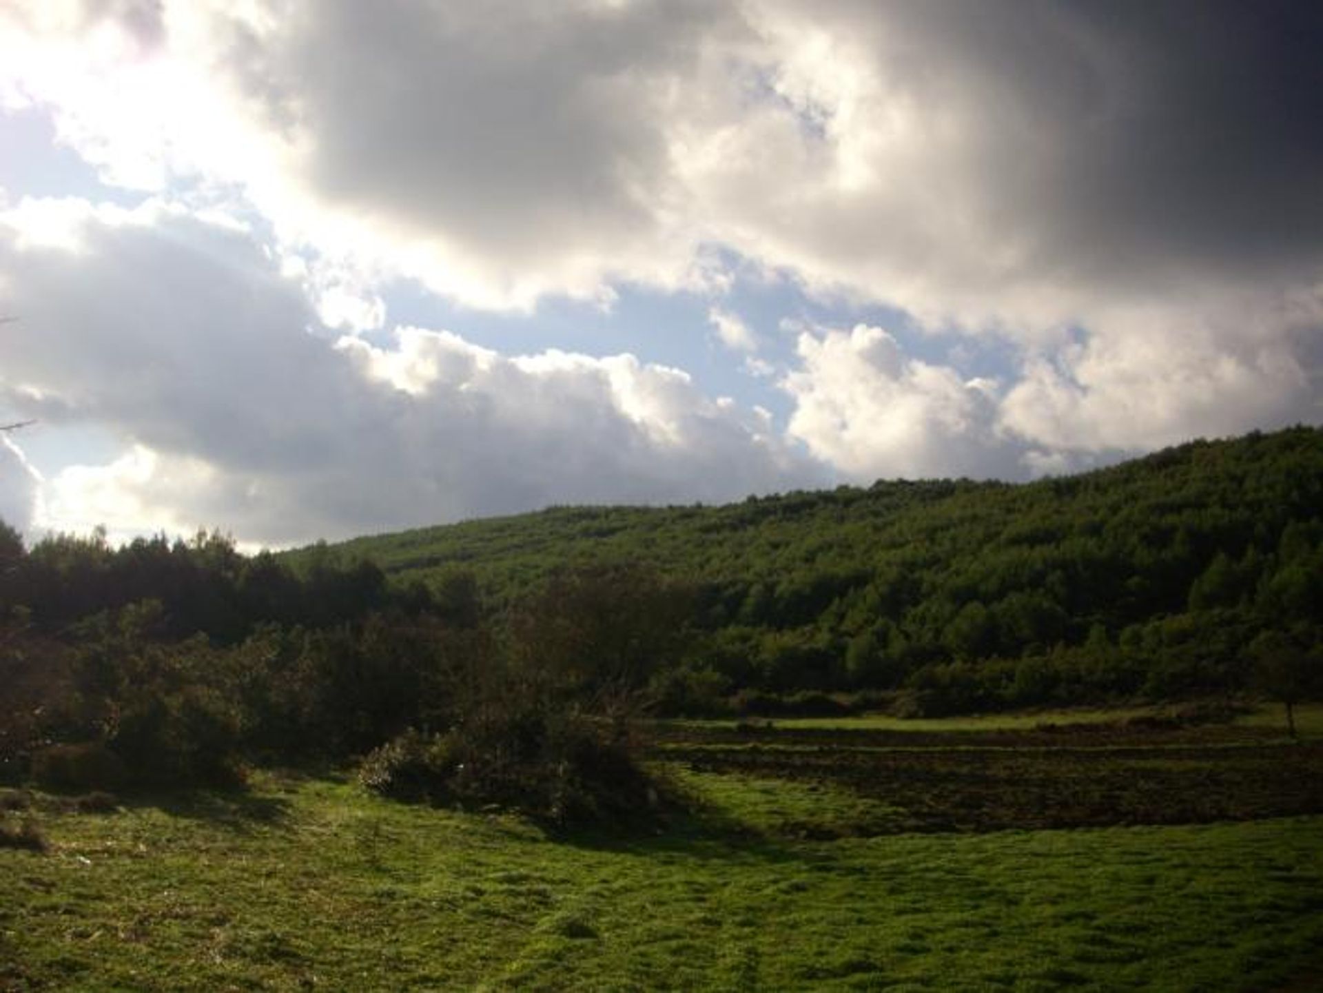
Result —
M 703 282 L 671 122 L 730 8 L 187 0 L 144 42 L 140 11 L 98 7 L 11 16 L 0 56 L 111 181 L 235 186 L 288 246 L 471 305 Z

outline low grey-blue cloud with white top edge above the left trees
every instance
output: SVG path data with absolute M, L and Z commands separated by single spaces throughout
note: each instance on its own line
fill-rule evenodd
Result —
M 53 475 L 38 528 L 97 518 L 288 543 L 822 480 L 765 414 L 679 370 L 508 357 L 423 328 L 336 341 L 233 226 L 152 204 L 111 219 L 89 206 L 73 229 L 73 247 L 53 247 L 0 225 L 24 315 L 0 337 L 0 397 L 56 427 L 105 426 L 124 452 Z

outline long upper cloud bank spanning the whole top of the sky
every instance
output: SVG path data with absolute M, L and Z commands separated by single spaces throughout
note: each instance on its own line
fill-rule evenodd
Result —
M 675 284 L 721 243 L 929 320 L 1050 325 L 1323 258 L 1310 4 L 15 9 L 8 89 L 93 161 L 239 184 L 474 303 Z

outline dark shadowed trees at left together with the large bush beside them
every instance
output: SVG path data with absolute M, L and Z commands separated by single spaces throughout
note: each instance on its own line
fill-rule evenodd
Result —
M 7 526 L 0 594 L 0 781 L 226 785 L 361 760 L 386 793 L 554 822 L 647 808 L 630 725 L 689 610 L 622 566 L 566 571 L 497 623 L 471 576 L 390 583 L 329 553 L 295 570 L 216 534 L 28 550 Z

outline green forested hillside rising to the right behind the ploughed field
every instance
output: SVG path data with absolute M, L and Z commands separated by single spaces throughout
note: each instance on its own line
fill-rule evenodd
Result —
M 910 688 L 925 710 L 1245 688 L 1316 649 L 1323 432 L 1195 442 L 1028 485 L 880 481 L 729 506 L 556 508 L 295 553 L 495 606 L 632 563 L 692 590 L 680 709 Z M 1256 639 L 1259 640 L 1254 648 Z M 683 677 L 681 677 L 683 676 Z

